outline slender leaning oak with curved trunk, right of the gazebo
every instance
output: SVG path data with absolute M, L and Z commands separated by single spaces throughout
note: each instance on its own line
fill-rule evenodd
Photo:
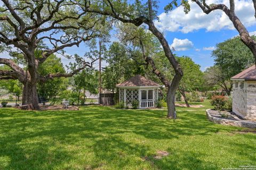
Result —
M 174 104 L 175 92 L 178 89 L 183 72 L 179 63 L 177 60 L 175 60 L 175 57 L 163 33 L 159 31 L 154 24 L 154 20 L 157 18 L 156 11 L 154 10 L 157 8 L 157 2 L 148 0 L 146 4 L 142 4 L 141 1 L 127 3 L 127 1 L 113 0 L 77 0 L 77 4 L 80 5 L 85 12 L 111 16 L 112 18 L 115 18 L 123 23 L 133 23 L 137 27 L 142 24 L 147 25 L 148 30 L 151 31 L 161 43 L 164 49 L 165 57 L 172 65 L 175 72 L 172 81 L 166 81 L 165 78 L 162 77 L 162 74 L 157 75 L 167 88 L 167 117 L 176 118 Z

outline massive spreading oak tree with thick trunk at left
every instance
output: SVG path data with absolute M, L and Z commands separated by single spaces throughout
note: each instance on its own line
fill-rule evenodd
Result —
M 50 73 L 44 76 L 38 73 L 38 66 L 53 53 L 63 54 L 64 48 L 79 46 L 83 41 L 97 37 L 103 18 L 81 11 L 72 1 L 2 2 L 0 46 L 19 53 L 24 65 L 21 66 L 12 59 L 0 58 L 0 64 L 11 67 L 11 70 L 0 70 L 0 79 L 19 80 L 24 86 L 22 105 L 38 109 L 36 83 L 56 77 L 71 77 L 85 67 L 91 67 L 91 63 L 77 60 L 79 64 L 73 65 L 69 73 Z M 42 46 L 42 43 L 47 46 Z

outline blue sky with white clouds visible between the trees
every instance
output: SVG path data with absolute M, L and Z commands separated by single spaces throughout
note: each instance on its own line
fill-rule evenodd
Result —
M 182 6 L 175 8 L 169 13 L 165 13 L 163 9 L 167 2 L 170 1 L 159 1 L 159 20 L 155 21 L 156 27 L 164 33 L 170 47 L 174 47 L 174 53 L 179 56 L 186 55 L 191 57 L 195 63 L 201 65 L 201 70 L 204 71 L 206 67 L 214 64 L 211 52 L 215 45 L 237 36 L 238 32 L 234 29 L 227 16 L 221 11 L 213 11 L 206 15 L 195 3 L 190 3 L 191 11 L 189 14 L 183 12 Z M 224 3 L 229 6 L 228 0 L 207 0 L 206 2 L 209 4 Z M 254 8 L 252 1 L 235 0 L 235 4 L 235 12 L 238 18 L 241 19 L 249 32 L 256 34 L 256 21 L 253 16 Z M 116 38 L 112 35 L 111 41 L 115 40 Z M 79 48 L 73 46 L 65 50 L 70 55 L 78 54 L 83 56 L 89 48 L 85 44 L 81 44 Z M 8 58 L 5 53 L 0 54 L 0 57 Z M 70 62 L 65 57 L 61 58 L 65 65 Z M 103 62 L 103 66 L 106 65 L 107 63 Z M 97 68 L 98 63 L 94 66 Z

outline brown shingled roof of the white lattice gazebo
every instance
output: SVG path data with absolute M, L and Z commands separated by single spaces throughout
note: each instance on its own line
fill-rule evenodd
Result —
M 156 82 L 146 79 L 142 75 L 135 75 L 133 78 L 116 85 L 116 87 L 160 87 Z

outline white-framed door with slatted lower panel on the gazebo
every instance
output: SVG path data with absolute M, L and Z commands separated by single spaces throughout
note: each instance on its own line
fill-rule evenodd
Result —
M 141 108 L 154 107 L 153 90 L 141 90 Z

